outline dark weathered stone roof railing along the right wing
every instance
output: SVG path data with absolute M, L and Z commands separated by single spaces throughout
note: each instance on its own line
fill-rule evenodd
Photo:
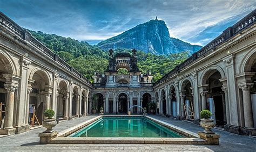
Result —
M 256 10 L 252 11 L 249 15 L 242 18 L 238 23 L 234 24 L 231 27 L 228 27 L 223 33 L 221 33 L 217 38 L 212 40 L 210 43 L 205 45 L 203 48 L 198 50 L 198 52 L 193 53 L 190 57 L 188 57 L 187 60 L 180 63 L 177 67 L 175 67 L 173 70 L 171 70 L 168 74 L 161 77 L 157 82 L 154 83 L 154 85 L 157 85 L 167 79 L 167 77 L 174 75 L 176 73 L 179 73 L 181 69 L 184 67 L 190 65 L 194 61 L 196 61 L 198 58 L 203 57 L 212 51 L 215 50 L 220 44 L 223 44 L 223 42 L 227 41 L 228 39 L 234 37 L 234 35 L 240 33 L 241 31 L 245 30 L 246 28 L 250 27 L 251 25 L 255 24 L 256 22 Z

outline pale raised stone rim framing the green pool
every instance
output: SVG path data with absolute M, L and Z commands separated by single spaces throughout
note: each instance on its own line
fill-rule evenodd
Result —
M 67 137 L 72 133 L 75 133 L 82 129 L 83 127 L 90 125 L 92 122 L 97 121 L 103 117 L 145 117 L 150 119 L 157 124 L 163 125 L 172 131 L 176 131 L 182 135 L 187 137 Z M 177 129 L 178 128 L 178 129 Z M 194 135 L 194 133 L 187 131 L 186 129 L 180 128 L 178 126 L 174 126 L 168 124 L 164 121 L 152 118 L 147 115 L 99 115 L 95 118 L 82 122 L 76 126 L 73 126 L 69 129 L 65 129 L 58 133 L 57 137 L 50 140 L 52 144 L 207 144 L 207 141 L 204 139 L 200 139 L 198 136 Z

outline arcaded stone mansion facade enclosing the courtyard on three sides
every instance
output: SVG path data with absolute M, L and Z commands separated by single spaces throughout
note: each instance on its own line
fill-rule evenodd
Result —
M 31 33 L 0 12 L 0 134 L 30 130 L 31 111 L 70 120 L 92 108 L 105 114 L 152 114 L 199 123 L 208 109 L 226 131 L 256 134 L 256 10 L 228 27 L 157 82 L 137 66 L 136 50 L 109 50 L 109 66 L 91 83 Z M 94 97 L 97 96 L 95 103 Z M 171 118 L 172 117 L 172 118 Z

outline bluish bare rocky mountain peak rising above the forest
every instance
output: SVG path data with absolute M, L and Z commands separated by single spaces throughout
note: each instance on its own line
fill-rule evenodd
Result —
M 190 54 L 201 48 L 176 38 L 171 38 L 164 20 L 150 20 L 122 34 L 97 44 L 99 48 L 136 48 L 145 53 L 170 54 L 188 51 Z

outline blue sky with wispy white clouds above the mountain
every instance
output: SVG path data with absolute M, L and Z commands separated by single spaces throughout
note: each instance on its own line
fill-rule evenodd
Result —
M 255 0 L 0 0 L 0 11 L 24 28 L 90 44 L 158 16 L 171 37 L 204 46 L 254 9 Z

